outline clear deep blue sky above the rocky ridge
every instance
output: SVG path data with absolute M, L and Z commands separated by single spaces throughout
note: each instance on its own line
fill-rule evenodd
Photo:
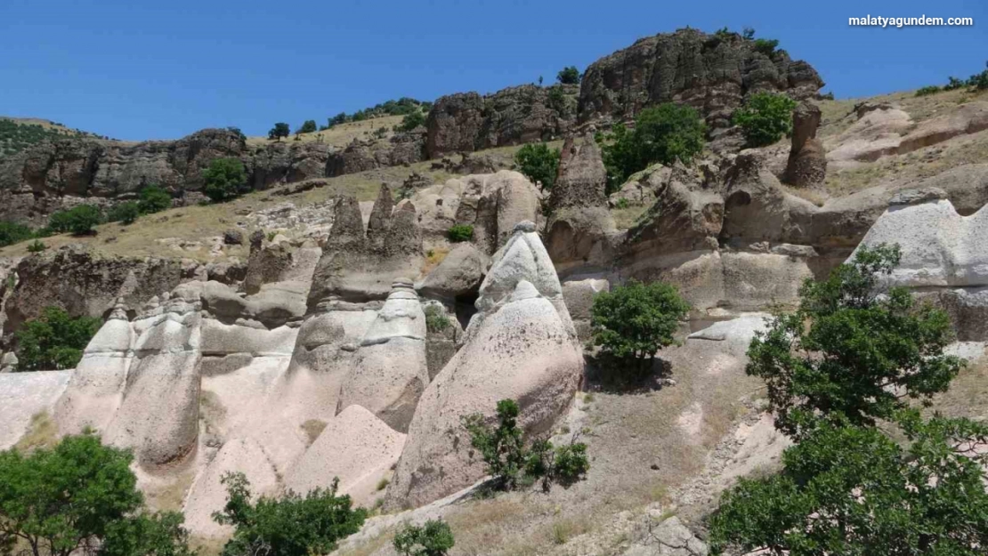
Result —
M 848 26 L 868 14 L 975 25 Z M 686 26 L 778 39 L 838 98 L 966 78 L 988 58 L 984 0 L 0 0 L 0 115 L 122 139 L 265 134 L 402 96 L 549 83 Z

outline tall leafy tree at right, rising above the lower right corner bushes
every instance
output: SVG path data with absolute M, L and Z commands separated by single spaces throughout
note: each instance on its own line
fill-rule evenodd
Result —
M 900 259 L 898 246 L 860 249 L 830 278 L 807 279 L 798 309 L 756 335 L 745 370 L 765 379 L 782 432 L 798 436 L 801 420 L 820 413 L 873 425 L 910 398 L 947 390 L 961 366 L 944 355 L 952 340 L 947 313 L 917 306 L 905 288 L 879 288 Z

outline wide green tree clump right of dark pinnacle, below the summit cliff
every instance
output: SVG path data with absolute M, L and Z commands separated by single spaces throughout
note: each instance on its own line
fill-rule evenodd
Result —
M 656 162 L 691 163 L 703 149 L 705 127 L 696 109 L 674 103 L 641 111 L 633 130 L 615 125 L 611 133 L 601 137 L 608 194 L 616 192 L 628 176 Z

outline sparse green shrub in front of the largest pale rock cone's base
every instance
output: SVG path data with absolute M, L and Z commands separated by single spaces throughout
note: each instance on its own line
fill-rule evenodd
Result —
M 515 400 L 499 401 L 498 426 L 493 430 L 482 414 L 462 418 L 470 445 L 480 452 L 487 473 L 494 477 L 494 488 L 512 490 L 541 479 L 542 489 L 548 491 L 552 482 L 566 486 L 586 475 L 590 460 L 585 443 L 553 447 L 548 440 L 535 440 L 526 449 L 523 432 L 518 428 L 519 411 Z

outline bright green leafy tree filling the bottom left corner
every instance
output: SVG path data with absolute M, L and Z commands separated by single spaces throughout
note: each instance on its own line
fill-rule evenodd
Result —
M 181 514 L 143 508 L 132 460 L 91 434 L 0 452 L 0 552 L 20 542 L 33 556 L 192 556 Z

